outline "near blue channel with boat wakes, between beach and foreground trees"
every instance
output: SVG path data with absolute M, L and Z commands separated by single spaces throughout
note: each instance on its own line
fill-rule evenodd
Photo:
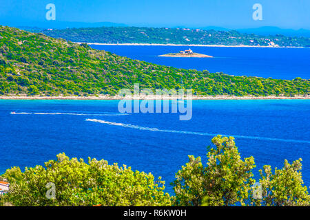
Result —
M 0 173 L 43 165 L 56 154 L 127 164 L 166 181 L 188 161 L 206 162 L 216 134 L 236 137 L 258 170 L 302 158 L 310 186 L 310 100 L 194 100 L 192 120 L 178 113 L 118 112 L 118 100 L 0 100 Z M 17 114 L 10 114 L 11 111 Z

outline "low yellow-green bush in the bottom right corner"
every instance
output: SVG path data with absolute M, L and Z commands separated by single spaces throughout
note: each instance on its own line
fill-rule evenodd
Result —
M 310 206 L 310 195 L 307 186 L 302 186 L 302 159 L 289 164 L 285 160 L 281 170 L 264 166 L 260 170 L 262 199 L 255 199 L 258 206 Z

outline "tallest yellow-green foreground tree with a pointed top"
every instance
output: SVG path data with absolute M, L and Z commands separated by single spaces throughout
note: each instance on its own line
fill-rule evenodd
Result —
M 231 206 L 244 204 L 254 184 L 254 157 L 242 160 L 234 137 L 212 139 L 216 148 L 209 148 L 207 166 L 200 157 L 189 156 L 189 162 L 176 173 L 173 183 L 176 204 L 180 206 Z

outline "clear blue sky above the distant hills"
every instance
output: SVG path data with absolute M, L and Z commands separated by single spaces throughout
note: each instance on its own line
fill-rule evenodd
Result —
M 56 6 L 56 21 L 109 21 L 149 27 L 310 29 L 310 0 L 0 0 L 0 22 L 48 22 L 48 3 Z M 262 5 L 262 21 L 252 18 L 254 3 Z

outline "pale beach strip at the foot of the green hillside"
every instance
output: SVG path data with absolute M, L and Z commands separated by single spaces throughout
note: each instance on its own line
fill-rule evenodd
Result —
M 121 96 L 0 96 L 0 100 L 122 100 Z M 176 100 L 181 96 L 126 96 L 134 100 Z M 186 97 L 185 97 L 186 99 Z M 192 96 L 192 100 L 310 100 L 310 96 Z

